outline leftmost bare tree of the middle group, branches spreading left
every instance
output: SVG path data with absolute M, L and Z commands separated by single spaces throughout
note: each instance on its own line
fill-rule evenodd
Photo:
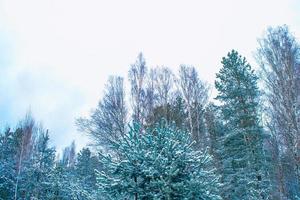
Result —
M 77 120 L 78 127 L 91 136 L 96 146 L 108 146 L 125 133 L 127 109 L 123 82 L 122 77 L 109 77 L 104 96 L 90 118 Z

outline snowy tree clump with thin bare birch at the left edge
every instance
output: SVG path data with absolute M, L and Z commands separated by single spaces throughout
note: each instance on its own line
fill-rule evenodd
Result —
M 47 199 L 55 149 L 27 115 L 15 131 L 0 135 L 0 199 Z

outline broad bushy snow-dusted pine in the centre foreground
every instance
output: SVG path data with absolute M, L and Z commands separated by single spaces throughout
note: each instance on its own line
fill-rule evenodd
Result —
M 99 193 L 104 199 L 221 199 L 219 178 L 207 152 L 195 151 L 190 134 L 166 126 L 139 125 L 101 154 Z

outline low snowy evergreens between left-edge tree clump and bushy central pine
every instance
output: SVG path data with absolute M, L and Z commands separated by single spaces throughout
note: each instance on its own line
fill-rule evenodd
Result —
M 56 163 L 51 174 L 52 185 L 48 199 L 98 199 L 95 174 L 95 169 L 100 167 L 98 158 L 88 148 L 82 149 L 77 156 L 73 151 L 74 143 L 65 148 L 63 159 Z

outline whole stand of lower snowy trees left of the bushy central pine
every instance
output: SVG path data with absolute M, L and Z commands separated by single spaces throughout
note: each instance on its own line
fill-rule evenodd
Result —
M 75 155 L 64 155 L 55 160 L 48 131 L 30 116 L 16 130 L 7 129 L 0 134 L 0 200 L 96 199 L 98 158 L 84 149 L 75 165 Z

